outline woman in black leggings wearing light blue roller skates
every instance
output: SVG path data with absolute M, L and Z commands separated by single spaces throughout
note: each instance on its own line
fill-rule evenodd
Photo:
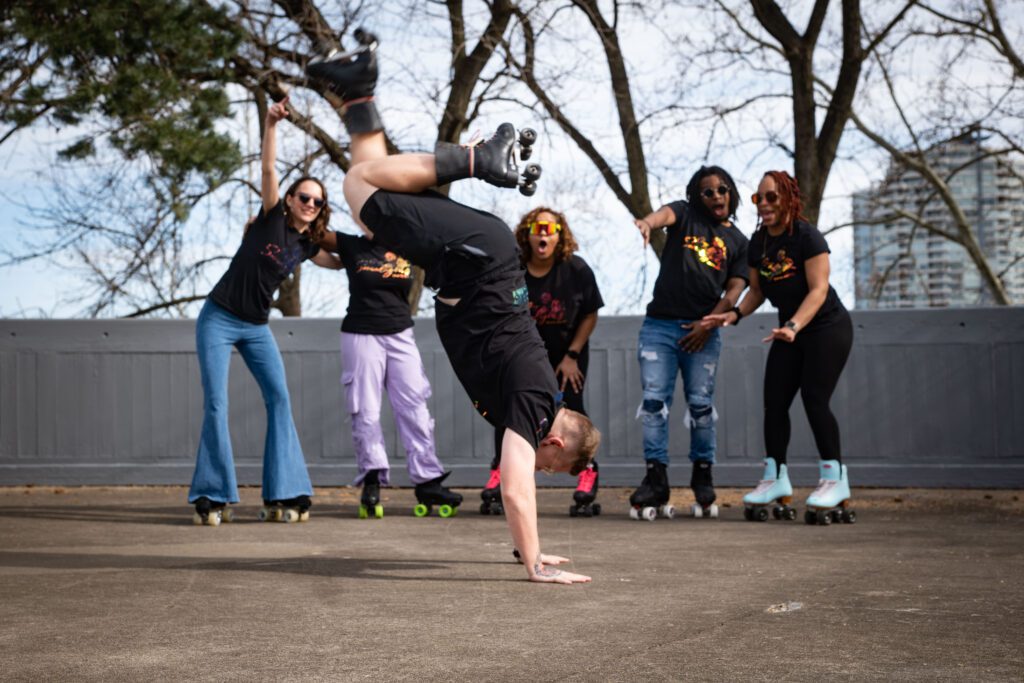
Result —
M 820 458 L 817 488 L 807 499 L 804 520 L 853 522 L 850 482 L 840 452 L 839 423 L 828 408 L 853 345 L 850 313 L 828 284 L 828 244 L 803 217 L 800 186 L 785 171 L 768 171 L 753 197 L 760 225 L 751 238 L 751 289 L 736 308 L 709 315 L 708 329 L 736 325 L 767 298 L 778 309 L 764 379 L 765 471 L 743 497 L 749 520 L 796 519 L 786 470 L 790 405 L 800 391 Z

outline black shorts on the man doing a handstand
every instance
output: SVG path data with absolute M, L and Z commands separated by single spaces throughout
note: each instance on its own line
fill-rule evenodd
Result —
M 359 212 L 374 242 L 427 273 L 426 285 L 459 298 L 500 271 L 519 267 L 511 228 L 497 216 L 426 190 L 378 189 Z

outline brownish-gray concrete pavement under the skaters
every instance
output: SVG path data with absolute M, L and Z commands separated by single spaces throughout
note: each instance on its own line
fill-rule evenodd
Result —
M 858 489 L 856 524 L 567 515 L 546 552 L 584 586 L 523 581 L 478 494 L 451 519 L 382 520 L 317 489 L 304 524 L 190 523 L 183 487 L 0 488 L 0 678 L 670 681 L 1024 678 L 1015 490 Z M 808 492 L 799 490 L 803 501 Z M 689 492 L 674 490 L 679 507 Z

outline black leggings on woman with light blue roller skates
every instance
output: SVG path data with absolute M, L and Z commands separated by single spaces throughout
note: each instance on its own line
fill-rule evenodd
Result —
M 765 366 L 765 450 L 781 465 L 790 445 L 790 405 L 800 390 L 821 460 L 842 460 L 839 423 L 828 408 L 853 346 L 853 323 L 805 331 L 793 343 L 775 340 Z

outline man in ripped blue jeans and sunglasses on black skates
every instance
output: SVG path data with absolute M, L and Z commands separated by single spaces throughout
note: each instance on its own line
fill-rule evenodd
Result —
M 643 402 L 643 452 L 647 472 L 630 497 L 634 519 L 653 521 L 669 505 L 669 409 L 676 375 L 683 376 L 690 429 L 690 487 L 695 517 L 717 517 L 712 478 L 715 464 L 715 375 L 722 339 L 700 319 L 736 305 L 746 287 L 746 238 L 733 224 L 739 205 L 736 183 L 718 166 L 701 166 L 686 184 L 686 201 L 673 202 L 635 222 L 644 246 L 652 230 L 668 227 L 654 298 L 640 328 L 637 352 Z

